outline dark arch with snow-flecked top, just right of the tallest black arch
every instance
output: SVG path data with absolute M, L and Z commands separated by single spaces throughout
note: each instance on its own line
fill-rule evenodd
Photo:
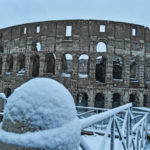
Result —
M 115 56 L 113 60 L 113 78 L 114 79 L 122 79 L 122 66 L 123 61 L 119 56 Z

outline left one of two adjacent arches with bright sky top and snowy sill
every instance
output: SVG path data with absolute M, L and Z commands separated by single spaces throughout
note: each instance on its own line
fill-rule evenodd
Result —
M 73 57 L 71 54 L 65 54 L 62 58 L 62 76 L 70 77 L 73 70 Z

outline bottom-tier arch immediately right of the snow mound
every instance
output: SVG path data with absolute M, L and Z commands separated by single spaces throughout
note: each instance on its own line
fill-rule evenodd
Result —
M 88 95 L 85 92 L 77 95 L 77 106 L 88 106 Z

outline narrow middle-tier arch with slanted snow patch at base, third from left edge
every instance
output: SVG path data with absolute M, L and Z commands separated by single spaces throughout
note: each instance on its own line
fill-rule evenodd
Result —
M 18 74 L 24 74 L 25 72 L 25 55 L 20 54 L 18 56 Z

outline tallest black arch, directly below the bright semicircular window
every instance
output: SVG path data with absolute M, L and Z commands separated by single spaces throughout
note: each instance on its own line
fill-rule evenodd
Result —
M 96 58 L 96 71 L 95 71 L 96 81 L 105 83 L 106 78 L 106 59 L 103 56 Z

